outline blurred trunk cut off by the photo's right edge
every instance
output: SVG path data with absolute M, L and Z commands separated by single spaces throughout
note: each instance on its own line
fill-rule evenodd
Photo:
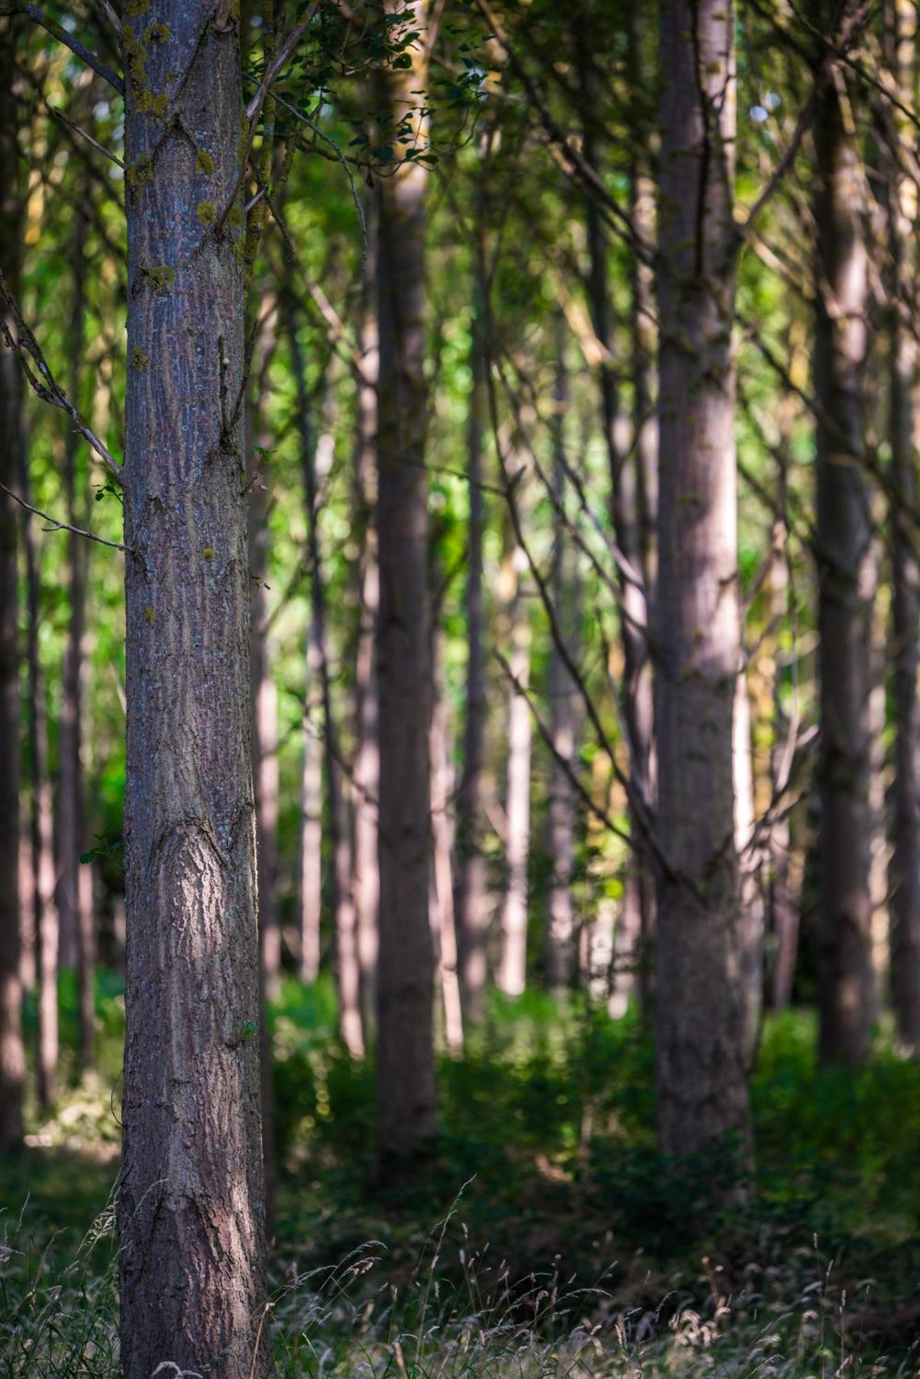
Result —
M 917 14 L 909 0 L 890 0 L 892 70 L 898 88 L 910 103 L 914 81 Z M 894 786 L 891 818 L 891 994 L 898 1037 L 920 1051 L 920 706 L 917 667 L 920 654 L 920 561 L 910 512 L 917 502 L 914 397 L 917 345 L 912 324 L 917 301 L 916 280 L 916 185 L 902 172 L 888 192 L 888 241 L 892 261 L 891 309 L 891 503 L 892 547 L 892 656 L 894 656 Z

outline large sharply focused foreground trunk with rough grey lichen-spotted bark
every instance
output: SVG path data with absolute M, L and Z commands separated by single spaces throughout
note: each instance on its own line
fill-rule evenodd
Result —
M 231 221 L 219 228 L 238 178 L 242 106 L 229 10 L 153 0 L 123 29 L 125 1379 L 149 1379 L 167 1361 L 222 1379 L 271 1373 L 240 421 L 244 268 L 237 229 Z M 158 41 L 150 26 L 160 26 Z M 169 72 L 180 73 L 172 84 Z M 154 108 L 167 91 L 175 105 L 164 123 Z

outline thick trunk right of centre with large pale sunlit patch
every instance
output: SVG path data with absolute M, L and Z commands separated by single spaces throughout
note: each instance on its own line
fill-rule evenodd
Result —
M 740 666 L 734 445 L 734 14 L 660 12 L 660 836 L 662 1147 L 748 1135 L 731 736 Z

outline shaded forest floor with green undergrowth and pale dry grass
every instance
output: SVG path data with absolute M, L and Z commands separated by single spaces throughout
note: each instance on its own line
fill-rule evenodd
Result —
M 123 1001 L 98 983 L 98 1066 L 0 1164 L 0 1373 L 117 1373 Z M 34 1012 L 28 1012 L 34 1019 Z M 332 992 L 291 980 L 273 1014 L 281 1160 L 278 1373 L 917 1375 L 920 1067 L 886 1044 L 819 1071 L 814 1020 L 767 1022 L 757 1158 L 654 1149 L 653 1049 L 584 1003 L 493 1004 L 442 1058 L 431 1160 L 379 1182 L 373 1077 L 335 1037 Z M 212 1371 L 220 1373 L 219 1365 Z

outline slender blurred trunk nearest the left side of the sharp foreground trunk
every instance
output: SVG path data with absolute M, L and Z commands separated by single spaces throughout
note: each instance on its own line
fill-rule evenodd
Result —
M 70 396 L 79 404 L 80 376 L 84 352 L 85 317 L 85 262 L 84 247 L 87 222 L 76 212 L 73 241 L 73 310 L 70 317 Z M 80 494 L 81 466 L 79 465 L 80 437 L 73 426 L 67 427 L 65 443 L 65 487 L 67 494 L 67 521 L 85 527 L 85 514 Z M 58 884 L 58 913 L 62 935 L 67 935 L 67 949 L 76 954 L 77 987 L 80 993 L 80 1066 L 92 1065 L 95 1043 L 95 925 L 92 914 L 92 888 L 87 889 L 84 866 L 80 855 L 85 851 L 85 797 L 83 787 L 83 723 L 81 723 L 81 677 L 83 641 L 85 627 L 85 587 L 88 542 L 74 532 L 67 532 L 67 603 L 70 621 L 63 661 L 63 692 L 61 701 L 61 747 L 59 747 L 59 855 L 61 880 Z M 88 903 L 87 903 L 88 902 Z

